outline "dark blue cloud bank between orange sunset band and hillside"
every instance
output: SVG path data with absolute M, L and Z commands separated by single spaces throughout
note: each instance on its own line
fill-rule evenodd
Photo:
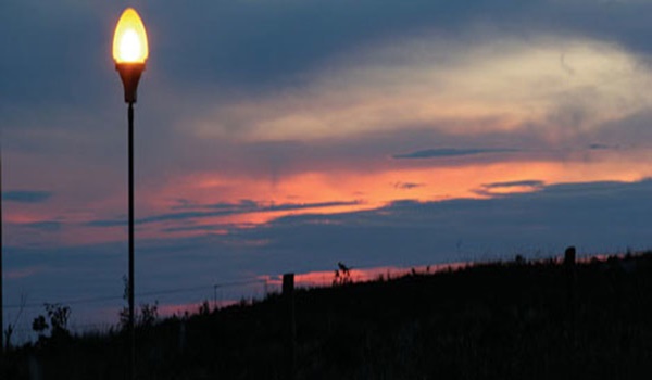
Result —
M 515 252 L 556 255 L 570 244 L 592 253 L 647 249 L 649 191 L 652 180 L 553 185 L 484 200 L 406 200 L 373 211 L 287 216 L 241 231 L 240 238 L 267 240 L 259 248 L 263 252 L 300 255 L 308 246 L 322 267 L 334 253 L 347 263 L 373 266 L 511 257 Z

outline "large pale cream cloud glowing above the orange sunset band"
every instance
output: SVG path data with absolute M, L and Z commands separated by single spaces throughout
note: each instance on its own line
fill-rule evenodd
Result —
M 560 65 L 562 55 L 573 74 Z M 379 41 L 328 63 L 274 93 L 216 102 L 184 130 L 209 140 L 305 142 L 414 129 L 523 134 L 528 144 L 560 148 L 586 144 L 605 123 L 652 105 L 652 72 L 639 56 L 582 37 L 432 34 Z M 474 147 L 490 148 L 502 149 Z

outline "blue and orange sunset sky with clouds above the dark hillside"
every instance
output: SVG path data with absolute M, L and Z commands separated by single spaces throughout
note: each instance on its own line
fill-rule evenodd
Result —
M 652 248 L 652 1 L 5 0 L 5 322 L 21 300 L 23 326 L 43 302 L 78 326 L 124 305 L 126 7 L 150 45 L 137 303 L 337 262 Z

